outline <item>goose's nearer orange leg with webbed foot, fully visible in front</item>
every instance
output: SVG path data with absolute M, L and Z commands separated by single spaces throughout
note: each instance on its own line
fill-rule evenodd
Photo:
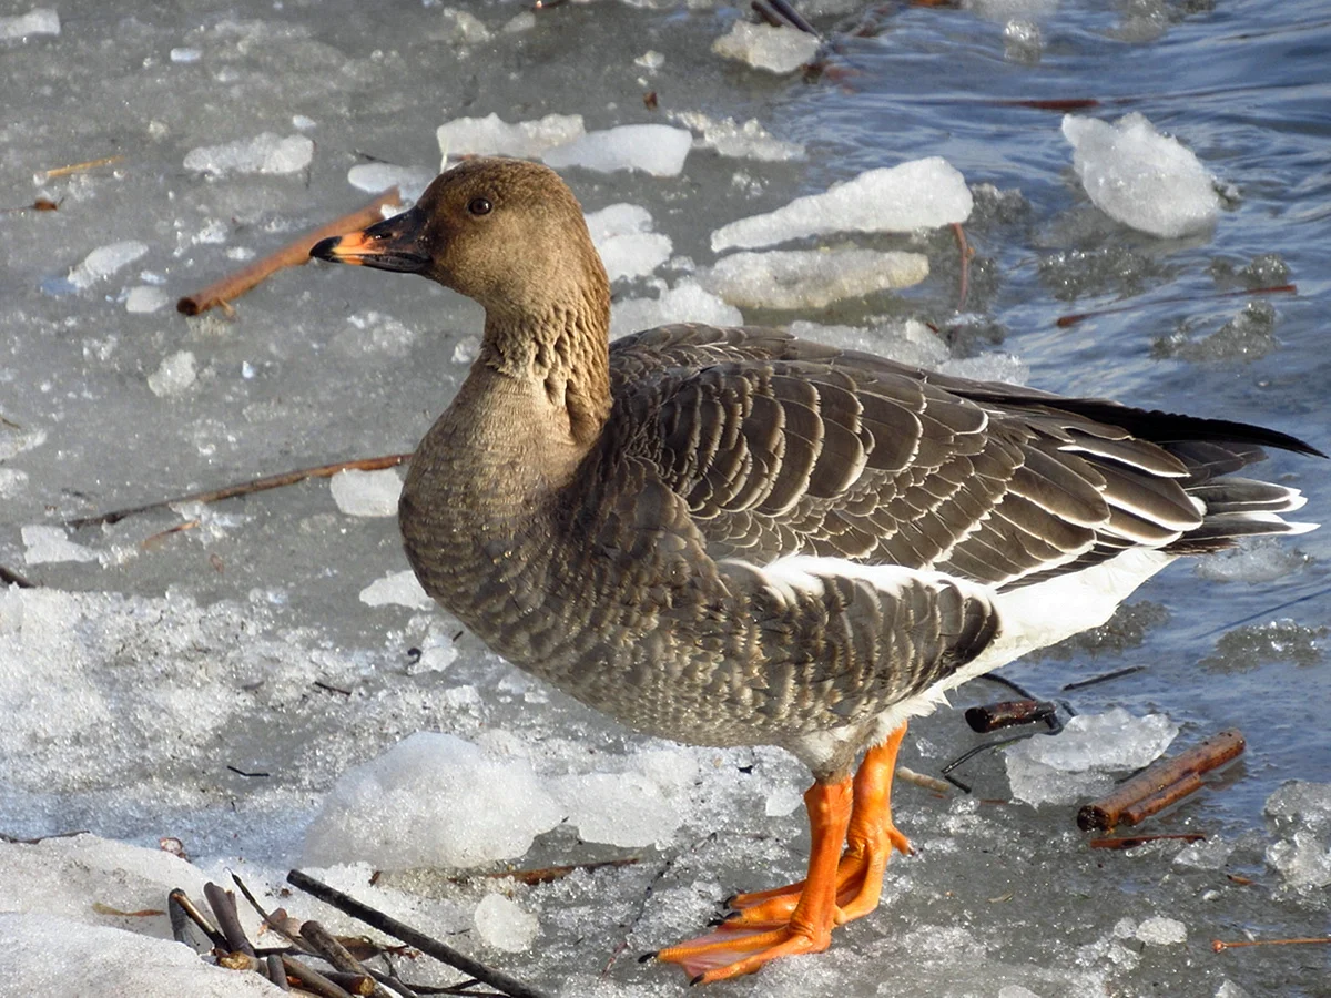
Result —
M 662 950 L 658 959 L 679 963 L 692 983 L 711 983 L 752 974 L 779 957 L 825 950 L 836 925 L 837 856 L 851 820 L 851 794 L 849 780 L 816 782 L 804 794 L 812 838 L 809 876 L 784 925 L 768 929 L 725 922 L 713 933 Z

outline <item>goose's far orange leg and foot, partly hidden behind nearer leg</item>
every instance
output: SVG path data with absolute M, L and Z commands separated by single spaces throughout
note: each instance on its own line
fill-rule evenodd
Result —
M 905 733 L 906 725 L 902 724 L 886 741 L 870 748 L 855 776 L 855 808 L 836 876 L 837 925 L 866 915 L 878 906 L 882 872 L 893 849 L 906 856 L 913 852 L 906 837 L 892 824 L 892 776 Z M 728 925 L 781 925 L 791 917 L 803 890 L 801 881 L 785 888 L 737 894 L 728 902 L 736 912 Z

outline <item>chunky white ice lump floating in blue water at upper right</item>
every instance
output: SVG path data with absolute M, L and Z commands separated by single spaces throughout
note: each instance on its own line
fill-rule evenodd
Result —
M 1063 137 L 1073 145 L 1073 168 L 1087 197 L 1110 218 L 1162 238 L 1215 225 L 1215 178 L 1143 114 L 1125 114 L 1113 125 L 1065 114 Z

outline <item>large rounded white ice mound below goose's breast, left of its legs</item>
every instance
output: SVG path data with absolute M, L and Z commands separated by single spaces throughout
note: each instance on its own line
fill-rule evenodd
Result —
M 379 869 L 515 860 L 562 810 L 524 758 L 418 732 L 347 770 L 305 837 L 305 862 Z

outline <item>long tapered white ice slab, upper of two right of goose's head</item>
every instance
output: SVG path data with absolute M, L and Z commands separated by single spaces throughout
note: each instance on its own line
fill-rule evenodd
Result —
M 752 249 L 836 232 L 913 232 L 970 217 L 966 181 L 937 156 L 865 170 L 823 194 L 799 197 L 767 214 L 723 225 L 712 250 Z

